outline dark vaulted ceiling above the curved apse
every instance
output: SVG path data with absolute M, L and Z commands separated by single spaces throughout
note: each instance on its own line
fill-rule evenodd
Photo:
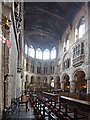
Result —
M 37 47 L 58 44 L 83 2 L 25 2 L 25 39 Z

